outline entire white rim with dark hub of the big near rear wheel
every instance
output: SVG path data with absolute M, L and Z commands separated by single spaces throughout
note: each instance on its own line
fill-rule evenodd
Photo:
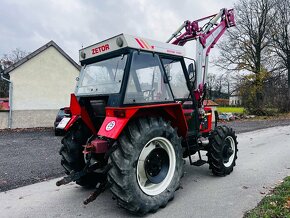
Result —
M 174 176 L 176 157 L 173 145 L 163 137 L 151 139 L 142 149 L 137 163 L 138 185 L 147 195 L 158 195 Z

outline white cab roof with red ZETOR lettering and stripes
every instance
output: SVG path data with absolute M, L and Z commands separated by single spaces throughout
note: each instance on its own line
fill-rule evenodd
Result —
M 123 48 L 133 48 L 150 52 L 185 56 L 185 50 L 181 46 L 131 36 L 128 34 L 120 34 L 81 49 L 79 51 L 80 62 L 90 58 L 99 57 Z

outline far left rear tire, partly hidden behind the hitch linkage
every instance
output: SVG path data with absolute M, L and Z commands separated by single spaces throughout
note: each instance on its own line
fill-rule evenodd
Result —
M 75 124 L 62 139 L 62 147 L 59 154 L 62 156 L 61 165 L 65 173 L 79 172 L 85 167 L 83 145 L 91 136 L 90 130 L 81 122 Z M 76 180 L 76 183 L 84 187 L 94 187 L 99 182 L 97 173 L 88 173 Z

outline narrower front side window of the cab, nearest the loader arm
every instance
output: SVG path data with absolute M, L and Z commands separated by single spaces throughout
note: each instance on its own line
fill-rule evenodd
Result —
M 162 62 L 164 64 L 165 72 L 169 79 L 174 98 L 188 98 L 189 90 L 186 85 L 186 79 L 180 61 L 163 58 Z

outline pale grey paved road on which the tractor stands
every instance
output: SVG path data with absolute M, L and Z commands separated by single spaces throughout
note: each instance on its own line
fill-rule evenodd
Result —
M 214 177 L 208 166 L 186 165 L 182 189 L 164 209 L 147 217 L 242 217 L 281 179 L 290 175 L 290 125 L 238 134 L 234 172 Z M 128 217 L 107 190 L 83 206 L 90 194 L 74 184 L 46 181 L 0 193 L 2 217 Z

